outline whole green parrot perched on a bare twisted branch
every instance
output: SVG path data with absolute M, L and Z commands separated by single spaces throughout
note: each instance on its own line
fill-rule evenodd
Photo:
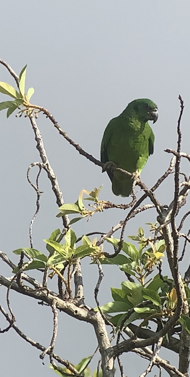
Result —
M 112 161 L 116 167 L 130 173 L 140 174 L 147 159 L 154 151 L 152 128 L 148 120 L 158 119 L 157 105 L 139 98 L 128 104 L 126 109 L 108 123 L 101 142 L 101 162 Z M 121 172 L 107 171 L 115 195 L 129 196 L 133 179 Z

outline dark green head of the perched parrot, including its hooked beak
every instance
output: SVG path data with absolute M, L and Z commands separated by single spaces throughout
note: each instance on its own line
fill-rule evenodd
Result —
M 158 106 L 148 98 L 139 98 L 130 102 L 127 109 L 136 113 L 139 118 L 146 122 L 153 120 L 153 123 L 155 123 L 158 120 Z

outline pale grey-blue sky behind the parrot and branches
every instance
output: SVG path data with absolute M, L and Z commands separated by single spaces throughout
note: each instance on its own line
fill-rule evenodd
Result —
M 26 87 L 33 86 L 32 102 L 46 107 L 60 127 L 79 143 L 84 150 L 99 158 L 104 129 L 111 118 L 119 115 L 135 98 L 150 98 L 158 104 L 159 120 L 153 125 L 155 153 L 141 174 L 141 179 L 152 187 L 164 173 L 170 161 L 166 148 L 176 148 L 176 124 L 179 115 L 179 93 L 185 102 L 182 118 L 182 150 L 190 152 L 190 2 L 184 0 L 122 1 L 122 0 L 67 0 L 6 1 L 1 5 L 0 58 L 19 74 L 28 64 Z M 15 86 L 5 67 L 0 66 L 0 81 Z M 0 95 L 0 101 L 5 96 Z M 103 184 L 100 198 L 113 202 L 127 202 L 116 198 L 111 184 L 101 168 L 80 156 L 61 137 L 45 116 L 40 115 L 38 126 L 43 136 L 49 161 L 57 175 L 65 202 L 75 202 L 81 189 L 92 190 Z M 29 247 L 29 222 L 35 212 L 36 196 L 26 180 L 26 170 L 34 161 L 40 161 L 34 133 L 29 120 L 6 119 L 0 113 L 0 249 L 18 263 L 12 250 Z M 189 166 L 184 163 L 189 173 Z M 35 179 L 37 169 L 31 177 Z M 40 213 L 33 226 L 34 247 L 45 251 L 42 241 L 61 227 L 55 196 L 46 173 L 41 174 Z M 157 192 L 156 192 L 157 193 Z M 141 194 L 141 193 L 140 193 Z M 139 195 L 140 195 L 139 194 Z M 173 176 L 157 193 L 162 204 L 173 198 Z M 189 209 L 189 201 L 186 206 Z M 77 236 L 89 231 L 107 232 L 126 216 L 121 210 L 107 210 L 87 223 L 82 220 L 73 226 Z M 181 215 L 180 215 L 181 218 Z M 155 222 L 154 210 L 139 215 L 126 227 L 126 239 L 136 234 L 139 226 Z M 186 230 L 188 224 L 186 224 Z M 117 234 L 120 236 L 120 233 Z M 111 250 L 105 245 L 104 250 Z M 187 253 L 189 249 L 187 248 Z M 189 257 L 182 262 L 182 273 Z M 98 279 L 97 267 L 82 264 L 86 303 L 95 306 L 93 290 Z M 166 262 L 166 261 L 165 261 Z M 0 260 L 0 273 L 11 276 L 11 270 Z M 167 272 L 165 263 L 164 272 Z M 105 277 L 99 299 L 101 305 L 112 300 L 110 286 L 120 288 L 125 276 L 117 267 L 104 267 Z M 40 273 L 31 273 L 41 279 Z M 57 279 L 51 283 L 56 289 Z M 6 289 L 1 287 L 0 302 L 6 307 Z M 37 301 L 10 294 L 17 326 L 29 337 L 48 346 L 52 336 L 52 313 Z M 7 325 L 0 315 L 0 328 Z M 19 377 L 56 375 L 48 368 L 49 357 L 39 359 L 40 351 L 22 340 L 14 330 L 1 334 L 0 365 L 2 375 Z M 77 364 L 90 356 L 97 346 L 93 328 L 66 314 L 59 314 L 58 338 L 55 353 Z M 171 354 L 162 351 L 169 359 Z M 94 371 L 98 356 L 90 368 Z M 147 360 L 132 353 L 122 357 L 125 375 L 138 376 L 148 365 Z M 170 359 L 177 366 L 177 357 Z M 153 369 L 150 376 L 158 374 Z M 120 374 L 116 372 L 116 377 Z M 165 374 L 163 374 L 165 375 Z

